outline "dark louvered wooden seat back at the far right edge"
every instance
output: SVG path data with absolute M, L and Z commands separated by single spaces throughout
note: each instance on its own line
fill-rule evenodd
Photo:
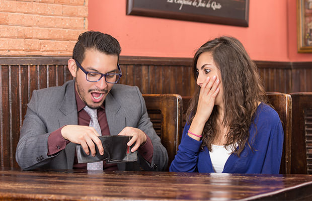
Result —
M 312 174 L 312 92 L 292 98 L 291 173 Z

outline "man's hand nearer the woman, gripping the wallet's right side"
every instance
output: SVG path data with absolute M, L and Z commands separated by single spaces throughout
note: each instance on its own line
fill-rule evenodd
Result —
M 128 146 L 131 146 L 134 142 L 135 145 L 132 147 L 131 152 L 135 152 L 141 144 L 146 142 L 146 135 L 143 131 L 133 127 L 126 127 L 118 135 L 123 136 L 132 136 L 131 140 L 127 143 Z

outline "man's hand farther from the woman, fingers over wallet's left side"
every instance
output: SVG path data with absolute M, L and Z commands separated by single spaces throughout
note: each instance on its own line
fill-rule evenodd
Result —
M 91 150 L 91 155 L 95 156 L 95 144 L 98 146 L 101 155 L 104 154 L 104 148 L 101 140 L 98 138 L 99 134 L 93 127 L 79 126 L 79 125 L 66 125 L 62 128 L 61 134 L 65 140 L 69 140 L 72 143 L 80 144 L 86 154 Z

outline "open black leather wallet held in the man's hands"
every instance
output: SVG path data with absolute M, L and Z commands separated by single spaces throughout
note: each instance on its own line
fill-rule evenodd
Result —
M 127 146 L 127 143 L 131 138 L 132 136 L 99 136 L 104 148 L 104 154 L 101 155 L 98 146 L 95 146 L 95 156 L 92 156 L 91 154 L 87 155 L 83 147 L 80 144 L 76 144 L 78 163 L 98 162 L 101 160 L 106 160 L 106 163 L 137 161 L 137 152 L 131 152 L 131 147 Z

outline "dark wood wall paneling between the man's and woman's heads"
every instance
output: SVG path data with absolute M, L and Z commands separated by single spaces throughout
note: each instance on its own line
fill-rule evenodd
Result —
M 120 57 L 122 84 L 136 85 L 142 93 L 192 94 L 196 84 L 192 74 L 192 59 Z

